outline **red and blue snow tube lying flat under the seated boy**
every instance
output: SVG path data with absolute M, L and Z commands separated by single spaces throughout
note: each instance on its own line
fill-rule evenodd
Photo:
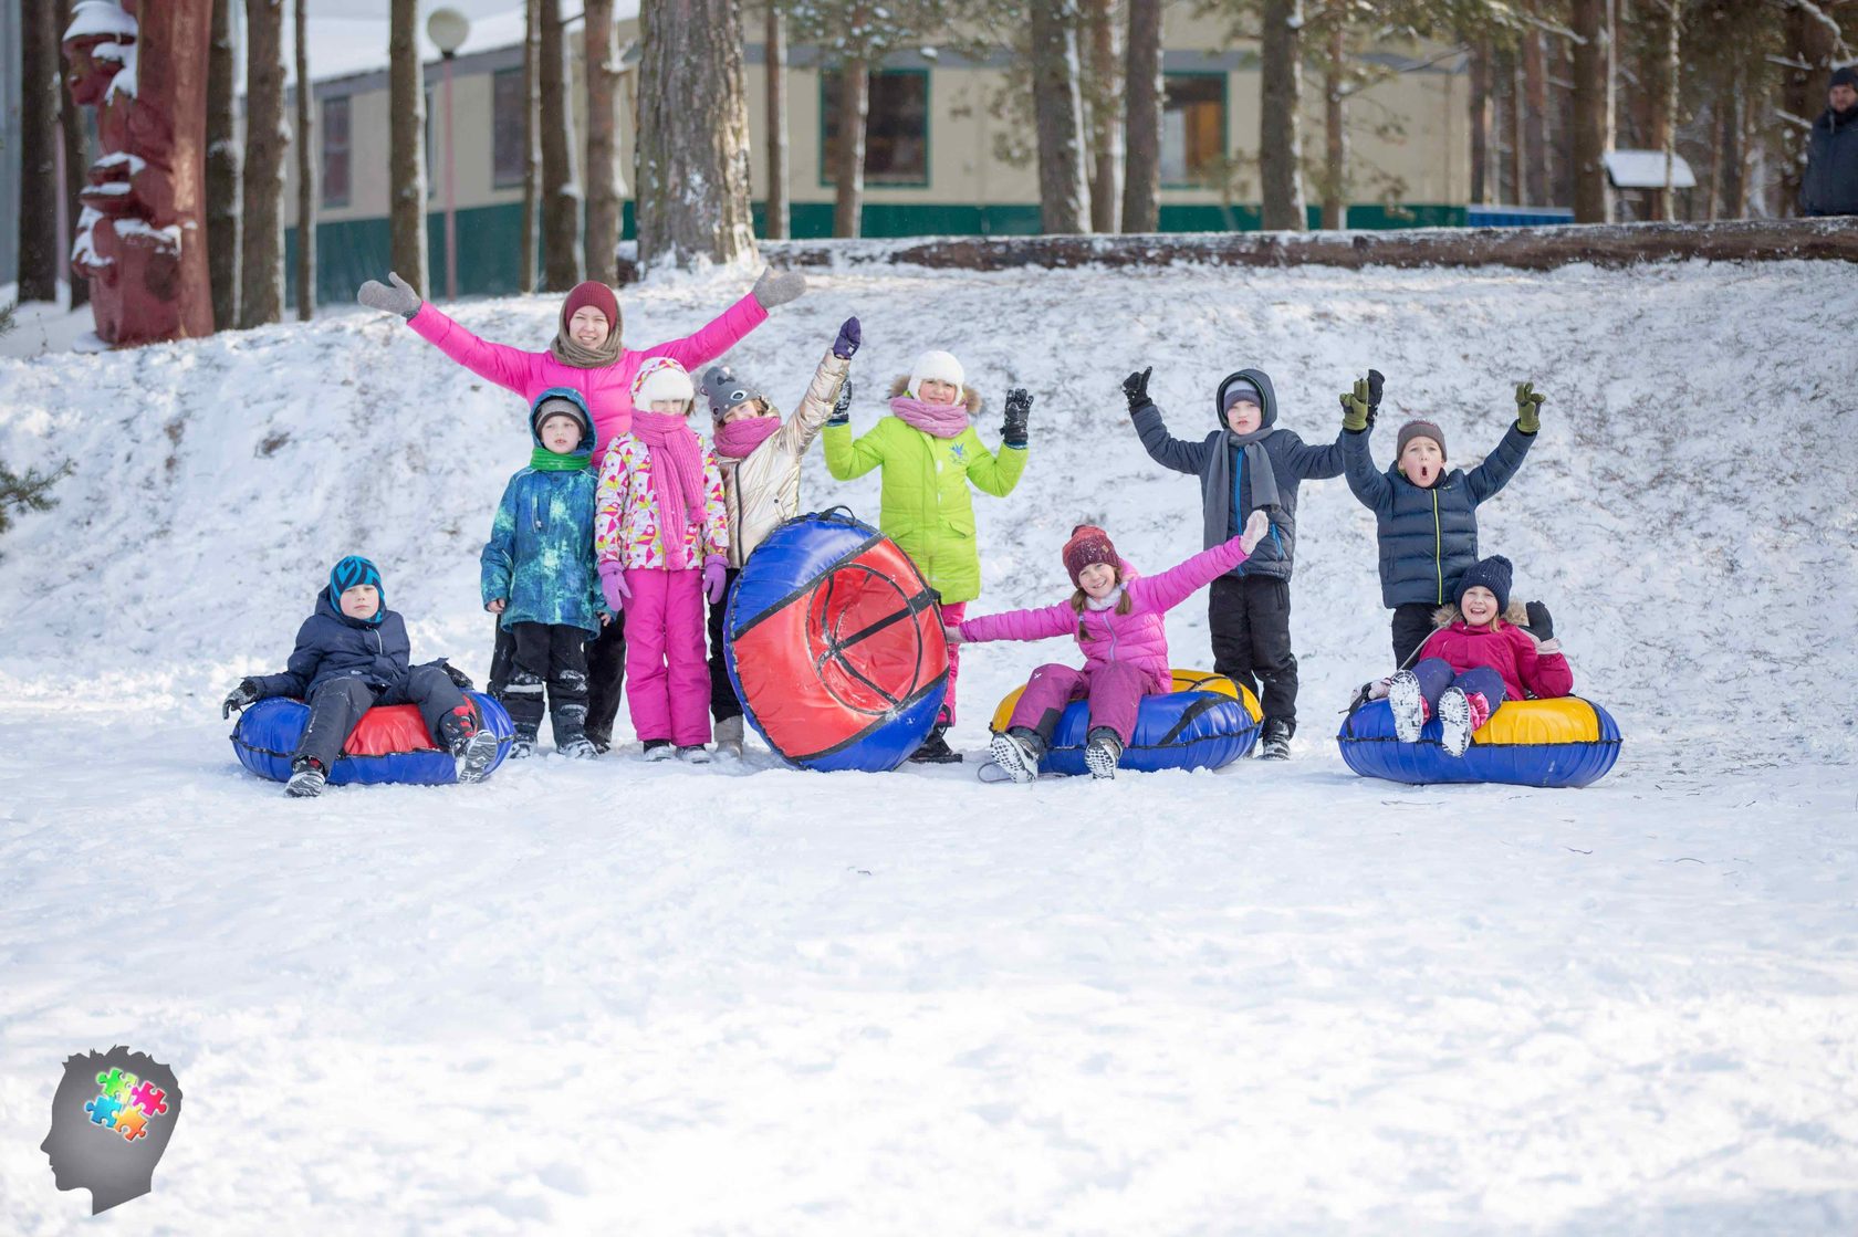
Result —
M 491 769 L 496 769 L 509 756 L 509 741 L 517 728 L 504 706 L 491 697 L 466 691 L 464 698 L 478 706 L 478 717 L 496 736 L 496 760 L 491 762 Z M 297 750 L 297 739 L 303 737 L 308 721 L 310 706 L 303 700 L 288 697 L 258 700 L 240 713 L 238 726 L 232 728 L 232 750 L 238 752 L 238 762 L 260 778 L 288 782 L 290 754 Z M 349 730 L 342 756 L 329 771 L 329 782 L 444 786 L 457 782 L 457 762 L 451 752 L 433 743 L 416 706 L 385 704 L 362 713 Z

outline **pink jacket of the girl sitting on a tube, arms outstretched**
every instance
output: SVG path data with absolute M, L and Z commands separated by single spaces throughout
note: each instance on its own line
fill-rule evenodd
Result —
M 962 643 L 985 641 L 1044 641 L 1053 635 L 1074 635 L 1083 648 L 1083 669 L 1096 671 L 1111 661 L 1133 661 L 1137 667 L 1167 678 L 1167 611 L 1213 583 L 1245 561 L 1245 550 L 1234 537 L 1223 546 L 1202 550 L 1180 566 L 1159 576 L 1128 579 L 1122 591 L 1130 598 L 1130 613 L 1085 609 L 1081 615 L 1070 602 L 1042 609 L 1009 609 L 1003 615 L 981 615 L 961 624 Z

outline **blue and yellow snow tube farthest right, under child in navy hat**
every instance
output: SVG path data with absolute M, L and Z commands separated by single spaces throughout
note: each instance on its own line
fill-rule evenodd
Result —
M 1369 700 L 1341 721 L 1336 743 L 1341 760 L 1362 776 L 1412 786 L 1589 786 L 1603 778 L 1620 754 L 1620 728 L 1603 708 L 1579 697 L 1503 702 L 1459 758 L 1446 754 L 1438 736 L 1434 717 L 1416 743 L 1401 743 L 1394 734 L 1394 710 L 1386 700 Z

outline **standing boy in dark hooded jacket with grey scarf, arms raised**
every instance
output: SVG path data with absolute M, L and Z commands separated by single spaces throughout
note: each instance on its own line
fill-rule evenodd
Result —
M 1263 511 L 1271 533 L 1234 572 L 1208 591 L 1213 671 L 1243 684 L 1263 706 L 1265 760 L 1289 756 L 1297 732 L 1297 658 L 1289 646 L 1289 574 L 1297 548 L 1297 485 L 1341 475 L 1341 438 L 1304 446 L 1276 429 L 1276 392 L 1263 370 L 1228 373 L 1213 396 L 1219 429 L 1202 442 L 1167 431 L 1148 397 L 1154 368 L 1122 381 L 1130 420 L 1148 457 L 1163 468 L 1200 477 L 1202 546 L 1211 550 L 1239 535 L 1252 511 Z

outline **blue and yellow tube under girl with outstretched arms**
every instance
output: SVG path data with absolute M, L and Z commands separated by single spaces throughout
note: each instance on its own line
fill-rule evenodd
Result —
M 1258 741 L 1258 723 L 1263 711 L 1250 691 L 1224 674 L 1206 671 L 1169 671 L 1174 685 L 1169 695 L 1143 697 L 1135 713 L 1135 734 L 1122 752 L 1122 769 L 1158 773 L 1161 769 L 1224 769 L 1252 750 Z M 1018 687 L 994 710 L 988 723 L 994 734 L 1007 728 L 1013 706 L 1020 702 Z M 1083 741 L 1089 730 L 1091 708 L 1072 700 L 1057 721 L 1052 750 L 1039 762 L 1040 773 L 1081 776 Z

